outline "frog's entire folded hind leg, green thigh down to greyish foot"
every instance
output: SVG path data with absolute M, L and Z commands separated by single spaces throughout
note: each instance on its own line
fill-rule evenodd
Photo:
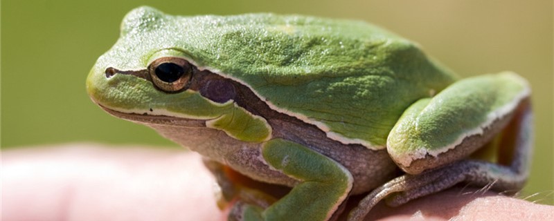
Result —
M 460 81 L 410 106 L 388 137 L 388 152 L 406 175 L 372 191 L 350 213 L 361 220 L 391 193 L 399 205 L 459 182 L 518 191 L 528 175 L 533 120 L 526 81 L 512 73 Z M 492 139 L 498 142 L 490 142 Z M 488 144 L 489 143 L 489 144 Z M 488 144 L 488 145 L 485 145 Z M 497 148 L 497 162 L 463 160 Z

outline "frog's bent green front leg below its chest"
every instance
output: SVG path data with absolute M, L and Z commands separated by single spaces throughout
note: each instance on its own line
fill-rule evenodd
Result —
M 262 146 L 262 157 L 269 166 L 301 182 L 267 209 L 238 204 L 231 215 L 242 220 L 329 220 L 352 189 L 347 169 L 301 144 L 269 140 Z

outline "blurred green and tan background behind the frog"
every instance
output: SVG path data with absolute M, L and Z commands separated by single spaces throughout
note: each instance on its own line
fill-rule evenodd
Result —
M 1 147 L 176 146 L 96 107 L 84 80 L 136 6 L 174 15 L 277 12 L 361 19 L 419 42 L 461 76 L 514 70 L 533 87 L 535 157 L 522 196 L 554 204 L 553 1 L 1 1 Z M 177 147 L 175 147 L 177 148 Z

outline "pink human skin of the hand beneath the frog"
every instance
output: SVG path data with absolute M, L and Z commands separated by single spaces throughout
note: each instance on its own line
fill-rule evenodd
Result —
M 1 220 L 225 220 L 213 177 L 179 149 L 68 144 L 2 153 Z M 450 189 L 368 220 L 554 220 L 554 206 Z

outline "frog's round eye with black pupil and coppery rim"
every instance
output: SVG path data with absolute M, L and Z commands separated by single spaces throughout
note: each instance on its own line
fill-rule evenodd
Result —
M 156 59 L 148 66 L 148 73 L 154 85 L 167 92 L 186 90 L 193 75 L 188 61 L 180 57 Z

